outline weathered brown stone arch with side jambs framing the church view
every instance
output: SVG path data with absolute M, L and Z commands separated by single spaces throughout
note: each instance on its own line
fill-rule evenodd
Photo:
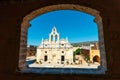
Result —
M 20 52 L 19 52 L 19 68 L 21 70 L 25 69 L 25 66 L 26 66 L 25 62 L 26 62 L 26 51 L 27 51 L 27 47 L 26 47 L 27 31 L 28 31 L 28 28 L 30 27 L 30 24 L 29 24 L 30 20 L 32 20 L 33 18 L 41 14 L 44 14 L 50 11 L 65 10 L 65 9 L 77 10 L 77 11 L 85 12 L 85 13 L 95 16 L 94 21 L 98 25 L 98 32 L 99 32 L 101 65 L 105 69 L 107 69 L 106 54 L 105 54 L 105 47 L 104 47 L 104 37 L 103 37 L 103 25 L 102 25 L 102 18 L 100 17 L 100 12 L 95 9 L 89 8 L 89 7 L 75 5 L 75 4 L 59 4 L 59 5 L 51 5 L 51 6 L 46 6 L 46 7 L 37 9 L 23 18 L 23 22 L 21 24 Z

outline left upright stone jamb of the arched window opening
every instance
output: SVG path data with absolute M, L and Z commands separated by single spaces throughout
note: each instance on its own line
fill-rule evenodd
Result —
M 19 50 L 19 69 L 26 69 L 26 54 L 27 54 L 27 32 L 29 23 L 21 24 L 21 35 L 20 35 L 20 50 Z

